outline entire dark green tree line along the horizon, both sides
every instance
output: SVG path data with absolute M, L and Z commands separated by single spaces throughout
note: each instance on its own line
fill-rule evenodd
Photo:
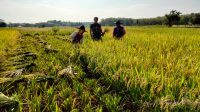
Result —
M 120 20 L 125 26 L 145 26 L 145 25 L 168 25 L 172 27 L 173 25 L 200 25 L 200 13 L 191 13 L 181 15 L 181 12 L 172 10 L 169 14 L 162 17 L 156 18 L 142 18 L 142 19 L 132 19 L 132 18 L 106 18 L 101 20 L 102 26 L 114 26 L 114 22 Z M 91 22 L 63 22 L 57 20 L 51 20 L 41 23 L 9 23 L 6 24 L 0 19 L 0 27 L 53 27 L 53 26 L 89 26 Z

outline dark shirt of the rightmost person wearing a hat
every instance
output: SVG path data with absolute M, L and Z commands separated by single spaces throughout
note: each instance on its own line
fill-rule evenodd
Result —
M 126 34 L 126 31 L 123 26 L 117 26 L 114 28 L 113 37 L 121 38 Z

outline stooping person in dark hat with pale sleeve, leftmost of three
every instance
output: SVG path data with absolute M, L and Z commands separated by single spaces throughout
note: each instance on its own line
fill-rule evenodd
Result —
M 72 41 L 72 43 L 74 43 L 74 44 L 81 44 L 81 43 L 83 43 L 83 34 L 85 33 L 85 32 L 87 32 L 86 30 L 85 30 L 85 26 L 84 25 L 82 25 L 82 26 L 80 26 L 79 28 L 77 28 L 77 29 L 79 29 L 78 31 L 75 31 L 75 32 L 73 32 L 72 34 L 71 34 L 71 41 Z

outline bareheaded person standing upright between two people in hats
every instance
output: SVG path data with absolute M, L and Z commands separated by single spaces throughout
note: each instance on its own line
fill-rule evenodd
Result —
M 102 36 L 104 36 L 105 32 L 102 31 L 101 24 L 98 23 L 99 18 L 94 17 L 94 23 L 90 25 L 90 35 L 93 41 L 102 41 Z

